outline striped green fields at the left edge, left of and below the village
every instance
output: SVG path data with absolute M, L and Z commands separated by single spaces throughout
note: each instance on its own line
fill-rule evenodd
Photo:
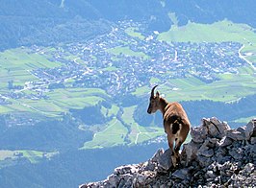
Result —
M 53 50 L 46 48 L 45 51 Z M 47 54 L 47 53 L 45 53 Z M 27 48 L 6 50 L 0 53 L 0 94 L 11 92 L 8 82 L 14 86 L 23 87 L 26 82 L 36 82 L 38 78 L 31 71 L 38 68 L 54 68 L 62 65 L 60 62 L 50 61 L 50 55 L 31 53 Z M 73 57 L 71 57 L 73 58 Z M 68 86 L 70 80 L 66 81 Z M 35 90 L 21 89 L 16 94 L 38 94 Z M 0 113 L 32 114 L 35 117 L 59 118 L 62 112 L 70 108 L 94 106 L 104 98 L 109 98 L 106 92 L 97 88 L 62 88 L 44 92 L 47 99 L 7 99 L 11 104 L 0 106 Z

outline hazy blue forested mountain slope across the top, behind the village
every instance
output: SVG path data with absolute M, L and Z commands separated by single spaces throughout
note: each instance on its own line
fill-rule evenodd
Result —
M 127 19 L 144 22 L 148 31 L 164 32 L 173 24 L 170 12 L 175 12 L 178 25 L 185 25 L 189 20 L 213 23 L 227 18 L 256 27 L 253 0 L 235 3 L 232 0 L 207 3 L 203 0 L 65 0 L 63 4 L 61 0 L 2 0 L 0 3 L 0 50 L 81 41 L 109 31 L 110 22 Z

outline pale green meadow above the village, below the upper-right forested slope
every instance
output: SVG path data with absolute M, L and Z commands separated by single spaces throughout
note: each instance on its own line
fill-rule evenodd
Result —
M 173 14 L 169 14 L 172 19 Z M 158 36 L 159 40 L 168 42 L 223 42 L 236 41 L 244 44 L 243 53 L 253 53 L 249 59 L 256 62 L 256 34 L 255 29 L 246 24 L 237 24 L 229 20 L 222 20 L 213 24 L 199 24 L 189 22 L 178 27 L 172 25 L 170 30 Z

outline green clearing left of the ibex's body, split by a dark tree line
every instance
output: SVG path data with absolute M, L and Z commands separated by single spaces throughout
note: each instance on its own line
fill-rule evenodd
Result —
M 136 106 L 124 107 L 124 112 L 121 116 L 122 120 L 131 128 L 131 132 L 128 135 L 128 139 L 130 141 L 129 146 L 136 145 L 148 139 L 153 139 L 165 134 L 164 129 L 162 128 L 143 128 L 139 126 L 133 118 L 135 108 Z M 103 111 L 105 110 L 106 109 L 103 109 Z M 98 149 L 125 145 L 127 143 L 124 138 L 127 133 L 128 129 L 125 128 L 118 120 L 113 119 L 104 129 L 98 129 L 94 134 L 93 139 L 86 142 L 81 149 Z

